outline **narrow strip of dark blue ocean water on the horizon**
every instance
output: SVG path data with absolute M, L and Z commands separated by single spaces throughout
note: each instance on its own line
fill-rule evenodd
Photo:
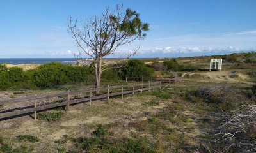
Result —
M 76 64 L 74 58 L 29 58 L 29 59 L 0 59 L 0 64 L 47 64 L 49 62 L 61 62 L 62 64 Z

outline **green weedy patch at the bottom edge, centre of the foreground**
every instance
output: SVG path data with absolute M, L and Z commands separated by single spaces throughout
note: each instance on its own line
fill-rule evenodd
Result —
M 156 152 L 156 145 L 147 138 L 109 137 L 105 126 L 99 126 L 92 133 L 93 138 L 74 138 L 73 142 L 79 152 Z

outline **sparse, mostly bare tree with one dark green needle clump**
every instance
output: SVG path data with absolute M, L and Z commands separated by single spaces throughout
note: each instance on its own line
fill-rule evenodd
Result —
M 145 38 L 144 32 L 148 31 L 148 27 L 147 23 L 141 22 L 136 11 L 128 8 L 124 12 L 122 6 L 116 6 L 114 11 L 110 12 L 106 8 L 101 17 L 90 18 L 81 22 L 81 25 L 70 18 L 68 29 L 79 48 L 79 55 L 93 59 L 95 85 L 100 87 L 102 71 L 109 69 L 108 66 L 102 66 L 103 57 L 115 54 L 120 46 Z M 138 49 L 133 50 L 126 58 L 137 51 Z

